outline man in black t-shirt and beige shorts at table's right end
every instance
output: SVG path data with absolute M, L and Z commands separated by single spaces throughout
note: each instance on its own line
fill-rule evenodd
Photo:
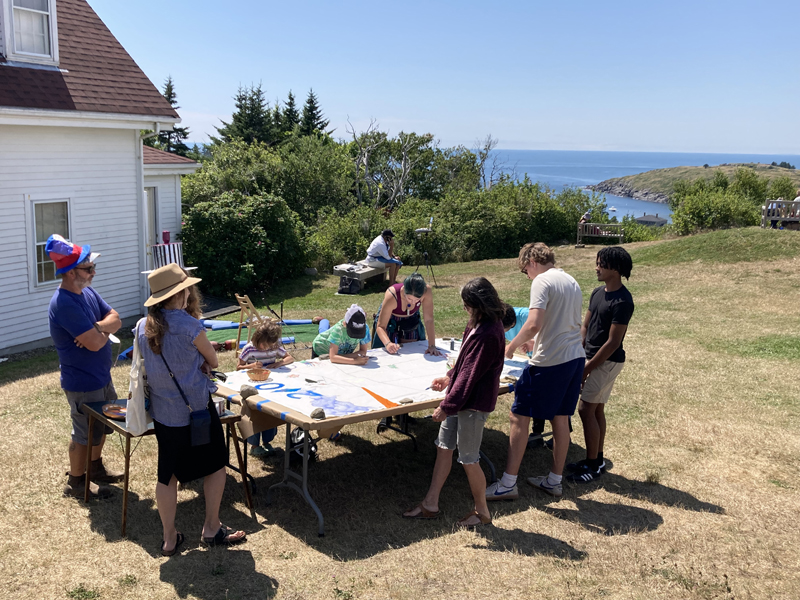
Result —
M 605 404 L 625 365 L 622 340 L 633 315 L 633 297 L 622 285 L 622 278 L 628 279 L 633 268 L 630 254 L 620 246 L 608 246 L 597 253 L 596 264 L 597 280 L 605 285 L 592 292 L 581 327 L 586 367 L 578 414 L 583 422 L 586 460 L 567 465 L 573 471 L 567 480 L 577 483 L 593 481 L 605 470 Z

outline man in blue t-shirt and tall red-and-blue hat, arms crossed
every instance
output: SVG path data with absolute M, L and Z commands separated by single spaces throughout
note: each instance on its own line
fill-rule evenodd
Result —
M 69 473 L 64 494 L 81 497 L 86 485 L 86 452 L 89 443 L 88 418 L 83 413 L 87 402 L 115 402 L 117 393 L 111 382 L 111 342 L 109 334 L 121 326 L 119 314 L 90 286 L 95 274 L 95 259 L 90 246 L 78 246 L 60 235 L 47 240 L 45 251 L 56 264 L 61 285 L 50 300 L 50 335 L 61 363 L 61 387 L 67 395 L 72 417 L 72 441 L 69 444 Z M 111 490 L 94 482 L 113 483 L 122 473 L 108 471 L 101 452 L 105 434 L 102 423 L 92 431 L 93 498 L 106 498 Z

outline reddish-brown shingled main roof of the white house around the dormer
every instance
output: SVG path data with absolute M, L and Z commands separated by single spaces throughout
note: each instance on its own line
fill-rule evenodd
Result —
M 58 0 L 57 19 L 67 73 L 0 62 L 0 106 L 178 117 L 85 0 Z

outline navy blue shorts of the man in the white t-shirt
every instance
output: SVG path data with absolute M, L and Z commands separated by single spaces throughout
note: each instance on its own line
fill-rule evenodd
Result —
M 557 416 L 572 416 L 578 405 L 585 365 L 585 358 L 552 367 L 528 365 L 514 388 L 511 412 L 547 421 Z

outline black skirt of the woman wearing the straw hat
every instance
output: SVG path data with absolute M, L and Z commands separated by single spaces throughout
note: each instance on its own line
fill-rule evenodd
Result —
M 190 426 L 169 427 L 153 421 L 158 440 L 158 482 L 169 485 L 172 476 L 181 483 L 216 473 L 228 464 L 228 447 L 219 415 L 209 399 L 211 442 L 192 446 Z

